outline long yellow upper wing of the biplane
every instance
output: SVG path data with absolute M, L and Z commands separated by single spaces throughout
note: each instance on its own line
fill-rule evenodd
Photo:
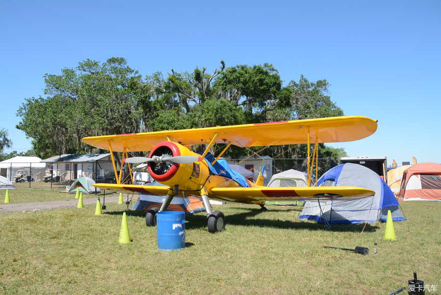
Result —
M 91 146 L 114 151 L 147 151 L 163 141 L 182 145 L 208 144 L 218 133 L 216 143 L 238 147 L 295 145 L 310 141 L 319 143 L 346 142 L 365 138 L 377 129 L 377 122 L 367 117 L 343 116 L 272 123 L 218 126 L 146 133 L 92 136 L 83 138 Z

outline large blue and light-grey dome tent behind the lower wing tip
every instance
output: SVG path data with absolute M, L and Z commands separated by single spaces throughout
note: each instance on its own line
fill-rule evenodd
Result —
M 393 221 L 406 220 L 389 186 L 377 173 L 362 165 L 336 166 L 320 177 L 318 186 L 355 186 L 370 189 L 375 195 L 352 201 L 307 201 L 300 219 L 330 224 L 385 222 L 391 210 Z

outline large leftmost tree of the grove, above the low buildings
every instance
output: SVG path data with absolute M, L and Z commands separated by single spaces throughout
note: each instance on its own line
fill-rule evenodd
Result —
M 121 57 L 85 60 L 62 74 L 45 74 L 46 97 L 25 99 L 17 125 L 41 157 L 84 153 L 85 136 L 139 132 L 149 111 L 141 75 Z

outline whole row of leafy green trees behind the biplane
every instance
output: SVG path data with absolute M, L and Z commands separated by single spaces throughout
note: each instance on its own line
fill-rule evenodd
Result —
M 44 78 L 45 97 L 25 99 L 17 112 L 17 128 L 33 139 L 42 158 L 96 151 L 81 143 L 85 136 L 343 115 L 328 96 L 326 80 L 301 75 L 283 86 L 268 63 L 226 67 L 221 61 L 211 73 L 196 67 L 143 77 L 124 58 L 112 57 L 104 63 L 87 59 Z M 227 155 L 253 150 L 232 148 Z M 305 157 L 306 146 L 270 147 L 265 153 L 281 152 Z M 319 156 L 326 155 L 333 153 L 320 144 Z

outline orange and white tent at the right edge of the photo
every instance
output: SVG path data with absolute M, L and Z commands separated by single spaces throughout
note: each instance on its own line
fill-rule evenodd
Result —
M 404 171 L 400 196 L 405 201 L 441 200 L 441 164 L 421 163 Z

